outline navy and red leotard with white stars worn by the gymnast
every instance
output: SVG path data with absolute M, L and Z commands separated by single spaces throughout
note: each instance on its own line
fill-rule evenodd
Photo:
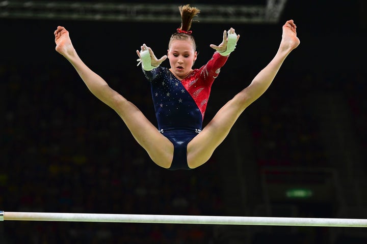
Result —
M 212 59 L 178 80 L 169 69 L 144 71 L 150 81 L 158 129 L 174 146 L 170 169 L 190 169 L 187 144 L 201 131 L 212 84 L 228 56 L 215 52 Z

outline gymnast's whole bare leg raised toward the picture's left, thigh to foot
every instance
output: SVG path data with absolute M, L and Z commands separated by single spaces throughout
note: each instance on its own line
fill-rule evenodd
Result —
M 91 93 L 120 115 L 153 162 L 163 168 L 169 168 L 173 158 L 173 144 L 150 123 L 133 103 L 118 94 L 83 63 L 71 43 L 69 32 L 64 27 L 58 26 L 54 34 L 56 51 L 71 63 Z

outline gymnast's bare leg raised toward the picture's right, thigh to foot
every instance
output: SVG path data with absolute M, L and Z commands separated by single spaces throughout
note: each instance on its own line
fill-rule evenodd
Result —
M 279 49 L 271 62 L 255 76 L 249 86 L 227 102 L 202 132 L 189 142 L 187 160 L 190 168 L 204 164 L 212 156 L 241 113 L 265 93 L 287 55 L 300 44 L 293 20 L 286 21 L 282 31 Z

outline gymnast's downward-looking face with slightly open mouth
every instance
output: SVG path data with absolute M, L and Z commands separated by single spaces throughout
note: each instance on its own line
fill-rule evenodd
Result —
M 191 72 L 197 52 L 190 40 L 173 40 L 167 50 L 170 71 L 179 79 L 185 79 Z

